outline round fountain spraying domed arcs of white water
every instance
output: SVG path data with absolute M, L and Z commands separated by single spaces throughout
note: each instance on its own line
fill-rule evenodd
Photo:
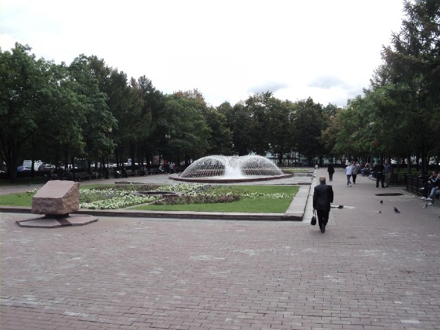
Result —
M 233 183 L 262 181 L 291 177 L 266 157 L 258 155 L 212 155 L 197 159 L 181 175 L 172 175 L 177 181 Z

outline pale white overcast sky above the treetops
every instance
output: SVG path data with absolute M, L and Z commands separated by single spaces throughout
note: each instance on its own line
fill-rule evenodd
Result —
M 0 47 L 69 65 L 85 54 L 208 104 L 256 92 L 343 107 L 404 18 L 402 0 L 0 0 Z

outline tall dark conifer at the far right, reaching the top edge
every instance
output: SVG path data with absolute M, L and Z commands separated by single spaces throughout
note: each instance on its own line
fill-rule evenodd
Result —
M 421 129 L 412 136 L 419 144 L 422 170 L 427 172 L 428 153 L 438 152 L 426 118 L 440 120 L 440 2 L 414 0 L 404 2 L 406 19 L 401 31 L 393 34 L 392 46 L 384 47 L 382 58 L 386 70 L 380 72 L 382 81 L 393 85 L 393 95 L 412 114 L 409 120 L 421 121 Z M 409 132 L 408 132 L 409 133 Z

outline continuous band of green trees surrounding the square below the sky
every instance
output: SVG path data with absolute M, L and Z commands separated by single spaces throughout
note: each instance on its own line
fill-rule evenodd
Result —
M 280 100 L 272 91 L 212 107 L 198 89 L 164 94 L 96 56 L 57 65 L 28 45 L 0 49 L 1 160 L 12 181 L 23 159 L 120 166 L 126 157 L 188 164 L 249 153 L 278 164 L 298 153 L 309 164 L 416 156 L 426 171 L 432 157 L 440 161 L 440 2 L 404 1 L 404 10 L 369 87 L 344 107 Z

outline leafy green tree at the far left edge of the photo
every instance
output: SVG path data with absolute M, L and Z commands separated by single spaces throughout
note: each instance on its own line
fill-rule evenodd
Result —
M 39 127 L 39 108 L 47 100 L 43 58 L 36 60 L 28 45 L 15 44 L 11 52 L 0 49 L 0 157 L 6 163 L 11 181 L 26 145 Z

